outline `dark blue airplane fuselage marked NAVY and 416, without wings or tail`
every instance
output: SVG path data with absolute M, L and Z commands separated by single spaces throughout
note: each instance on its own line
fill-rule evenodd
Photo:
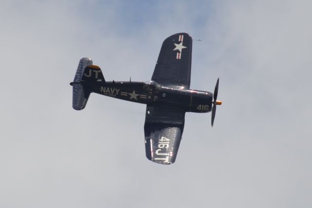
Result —
M 89 86 L 92 92 L 140 104 L 162 104 L 183 108 L 186 112 L 206 113 L 212 110 L 211 92 L 161 86 L 149 82 L 98 82 Z

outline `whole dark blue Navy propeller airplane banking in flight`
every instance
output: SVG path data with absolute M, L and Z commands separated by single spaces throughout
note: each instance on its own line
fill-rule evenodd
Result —
M 79 62 L 73 86 L 73 108 L 82 110 L 91 92 L 146 104 L 144 125 L 146 157 L 159 164 L 176 160 L 184 128 L 185 112 L 212 111 L 214 125 L 219 79 L 211 92 L 190 89 L 192 37 L 177 33 L 161 46 L 152 80 L 106 82 L 101 69 L 89 58 Z

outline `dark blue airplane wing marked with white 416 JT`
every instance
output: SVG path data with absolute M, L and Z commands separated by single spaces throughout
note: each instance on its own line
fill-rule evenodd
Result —
M 146 157 L 159 164 L 176 160 L 184 128 L 185 111 L 174 106 L 147 105 L 144 135 Z

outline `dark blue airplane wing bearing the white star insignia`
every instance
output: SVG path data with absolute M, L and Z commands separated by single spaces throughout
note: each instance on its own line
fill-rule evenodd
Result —
M 168 37 L 161 46 L 152 80 L 164 86 L 190 88 L 192 37 L 177 33 Z

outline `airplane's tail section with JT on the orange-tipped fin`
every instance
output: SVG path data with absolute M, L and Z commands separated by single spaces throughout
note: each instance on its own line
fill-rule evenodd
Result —
M 95 82 L 105 82 L 101 69 L 92 65 L 93 62 L 89 58 L 82 58 L 79 61 L 73 86 L 73 108 L 82 110 L 89 99 L 91 93 L 91 85 Z

